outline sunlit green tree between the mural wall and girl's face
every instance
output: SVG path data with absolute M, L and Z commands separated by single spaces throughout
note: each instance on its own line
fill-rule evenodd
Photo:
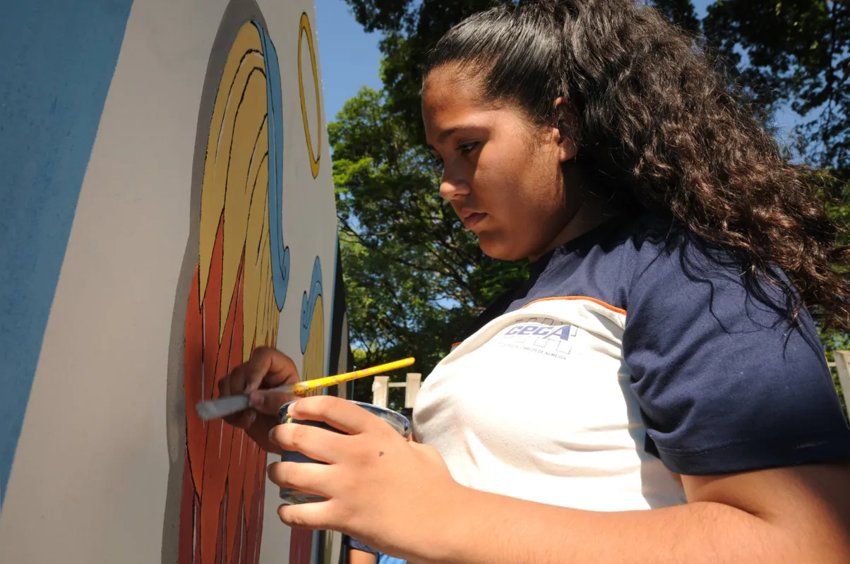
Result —
M 525 265 L 484 256 L 439 197 L 431 155 L 407 132 L 369 88 L 328 125 L 355 365 L 413 356 L 427 375 Z M 368 398 L 370 384 L 355 397 Z

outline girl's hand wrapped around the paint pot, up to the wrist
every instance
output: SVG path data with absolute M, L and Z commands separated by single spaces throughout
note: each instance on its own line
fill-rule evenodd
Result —
M 462 489 L 437 450 L 408 442 L 377 415 L 341 398 L 299 399 L 289 414 L 347 434 L 297 424 L 272 429 L 269 438 L 280 448 L 328 463 L 269 465 L 269 479 L 278 486 L 327 498 L 281 505 L 280 520 L 341 531 L 391 556 L 431 560 L 450 499 Z

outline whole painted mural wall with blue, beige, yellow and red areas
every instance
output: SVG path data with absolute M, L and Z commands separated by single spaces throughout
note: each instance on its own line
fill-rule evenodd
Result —
M 258 346 L 348 369 L 314 24 L 310 0 L 0 20 L 0 561 L 341 561 L 280 523 L 275 456 L 194 410 Z

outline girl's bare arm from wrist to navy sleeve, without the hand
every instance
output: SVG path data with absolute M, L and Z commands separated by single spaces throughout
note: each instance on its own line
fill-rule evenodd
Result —
M 456 489 L 432 554 L 457 564 L 850 562 L 850 465 L 683 477 L 689 503 L 602 513 Z

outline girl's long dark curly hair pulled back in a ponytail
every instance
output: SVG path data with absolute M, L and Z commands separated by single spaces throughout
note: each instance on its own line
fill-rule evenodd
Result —
M 479 71 L 484 94 L 558 125 L 624 209 L 672 217 L 827 327 L 850 329 L 850 249 L 717 59 L 632 0 L 529 0 L 473 14 L 429 54 Z M 579 124 L 568 125 L 559 97 Z M 575 122 L 575 120 L 574 120 Z M 822 175 L 821 175 L 822 176 Z M 791 285 L 776 273 L 779 267 Z

